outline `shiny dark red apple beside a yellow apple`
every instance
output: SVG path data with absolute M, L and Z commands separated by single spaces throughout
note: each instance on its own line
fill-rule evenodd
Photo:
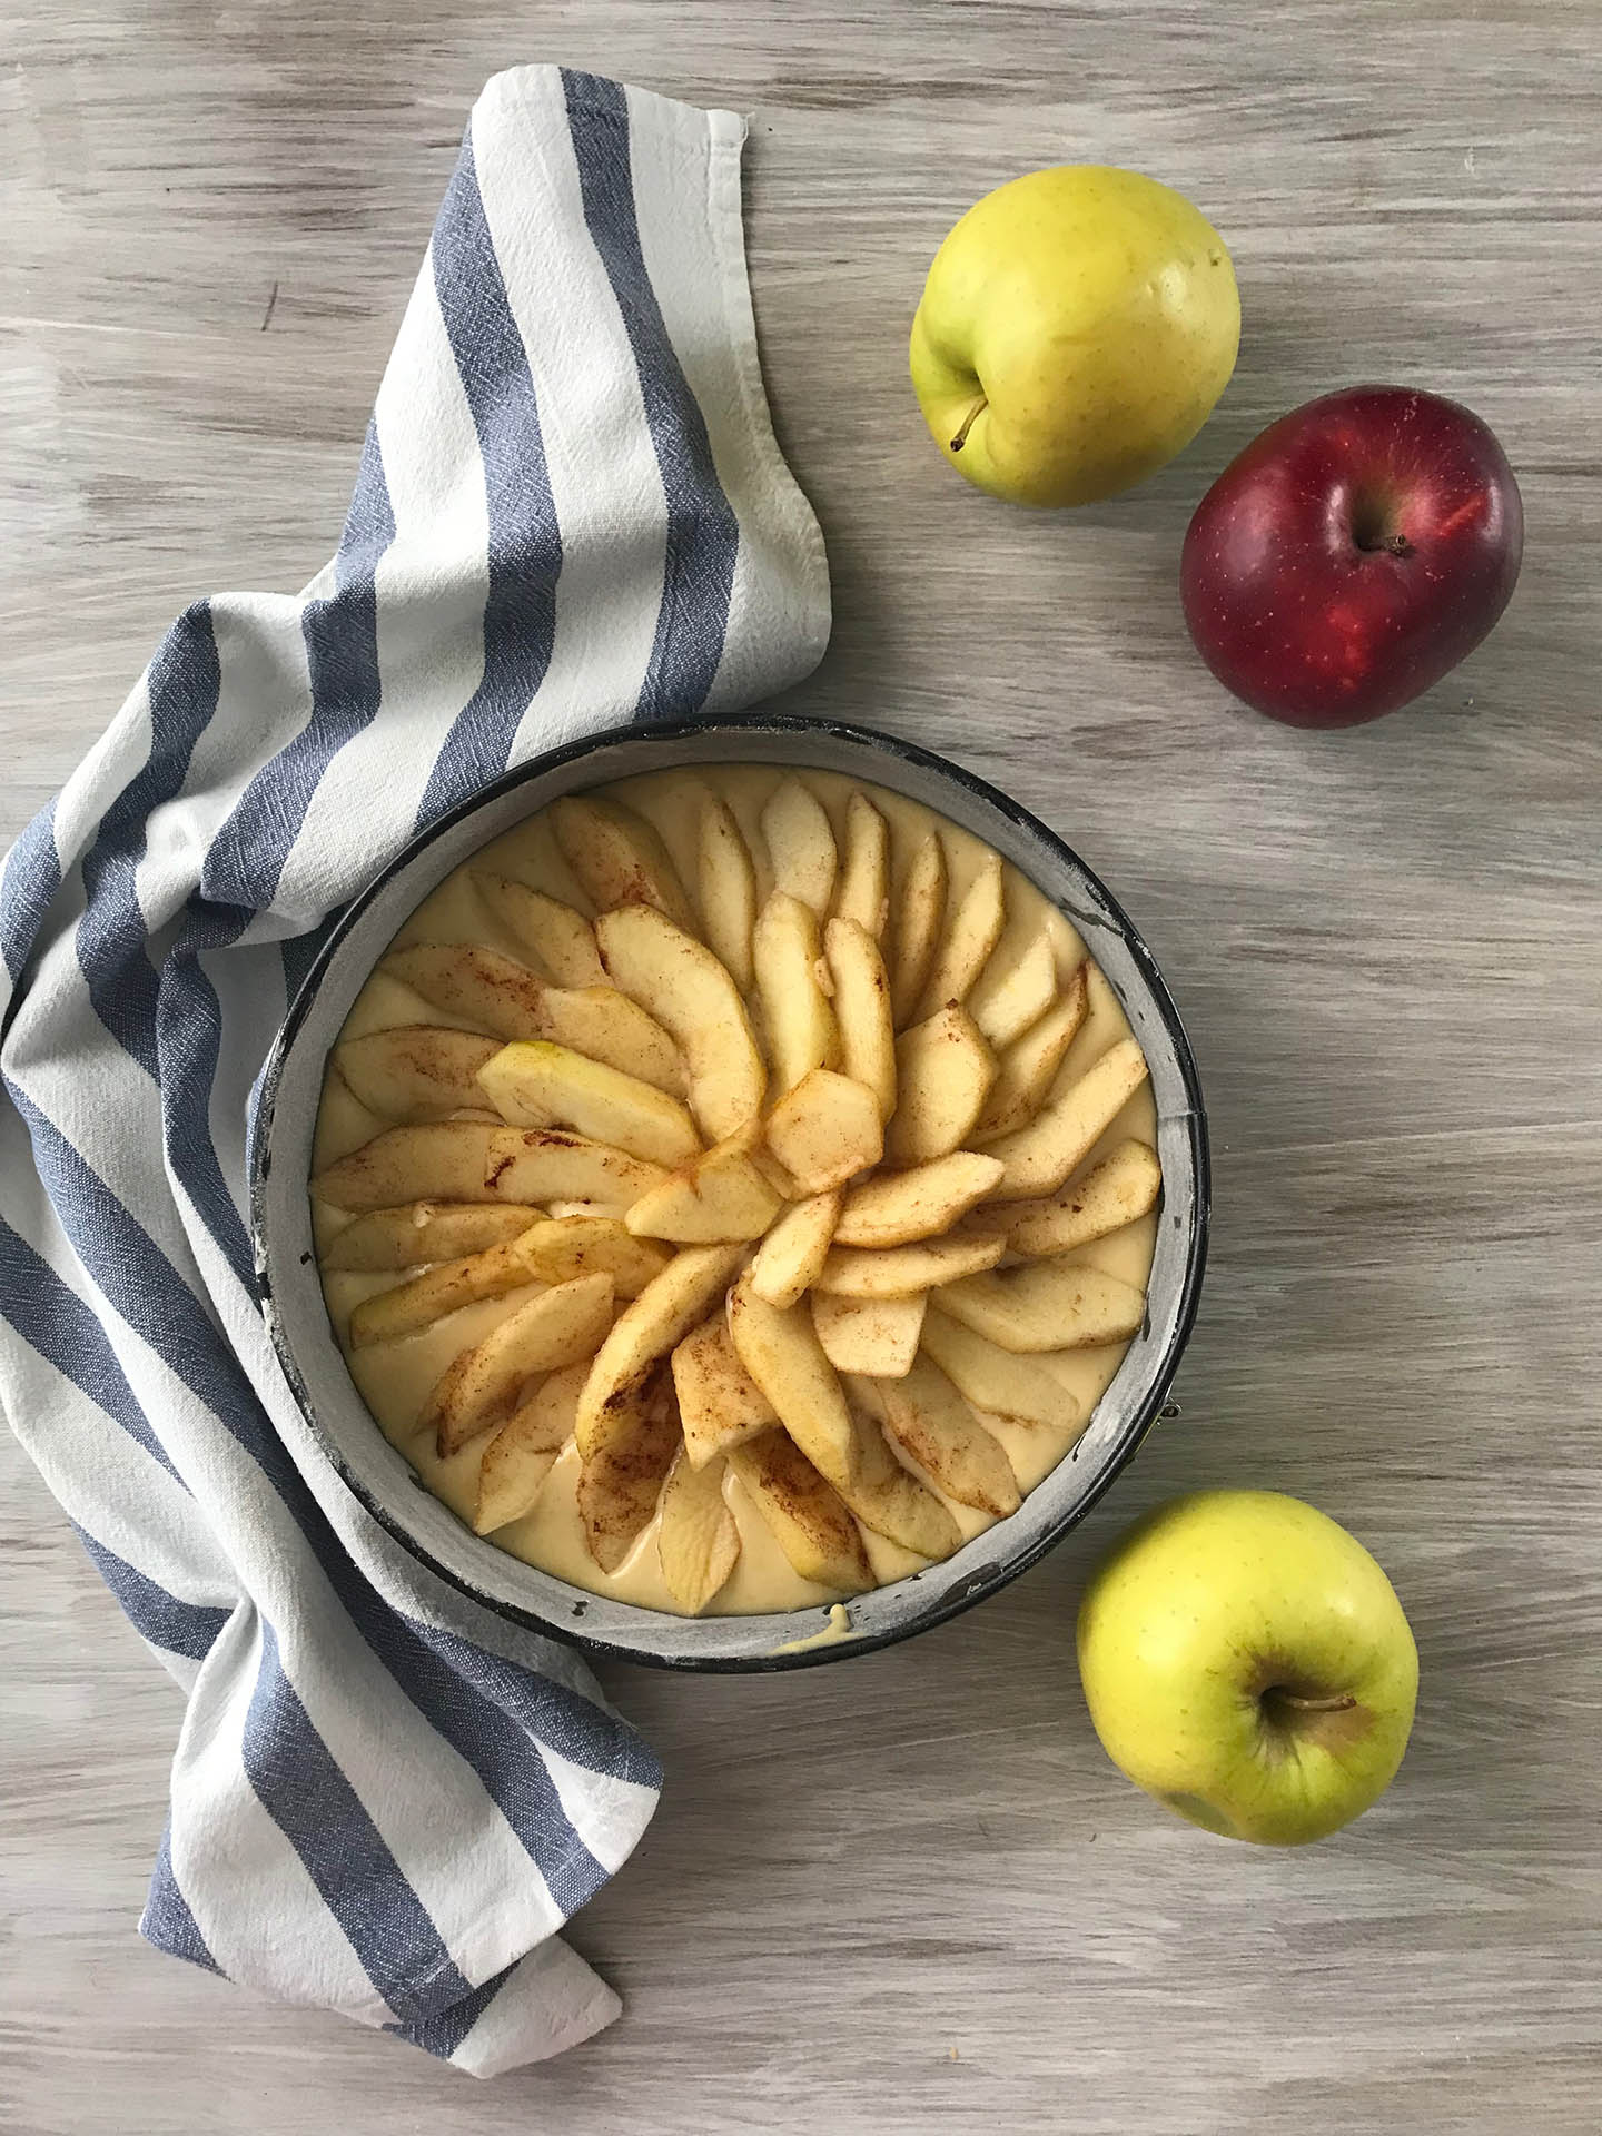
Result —
M 1179 598 L 1226 690 L 1358 726 L 1429 690 L 1508 604 L 1523 504 L 1457 402 L 1352 387 L 1279 417 L 1196 506 Z

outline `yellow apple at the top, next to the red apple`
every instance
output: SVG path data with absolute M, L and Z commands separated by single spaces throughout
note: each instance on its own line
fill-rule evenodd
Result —
M 1030 171 L 970 207 L 912 320 L 946 459 L 1012 504 L 1091 504 L 1190 444 L 1235 370 L 1241 299 L 1207 216 L 1138 171 Z

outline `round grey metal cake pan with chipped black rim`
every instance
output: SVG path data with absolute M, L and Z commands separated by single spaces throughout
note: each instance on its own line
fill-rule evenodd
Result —
M 1021 869 L 1072 921 L 1145 1049 L 1162 1203 L 1147 1314 L 1085 1435 L 1006 1521 L 944 1564 L 839 1611 L 673 1617 L 613 1602 L 496 1549 L 431 1497 L 367 1414 L 323 1305 L 305 1181 L 323 1068 L 367 974 L 412 910 L 489 839 L 562 795 L 643 771 L 756 763 L 839 771 L 908 795 Z M 305 1418 L 374 1517 L 444 1581 L 517 1623 L 662 1668 L 797 1668 L 869 1653 L 955 1617 L 1027 1570 L 1138 1448 L 1196 1316 L 1207 1252 L 1207 1121 L 1190 1040 L 1151 953 L 1113 895 L 1042 822 L 959 765 L 893 735 L 750 713 L 619 726 L 508 771 L 417 837 L 342 914 L 267 1062 L 252 1130 L 252 1230 L 267 1324 Z

